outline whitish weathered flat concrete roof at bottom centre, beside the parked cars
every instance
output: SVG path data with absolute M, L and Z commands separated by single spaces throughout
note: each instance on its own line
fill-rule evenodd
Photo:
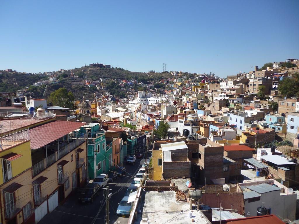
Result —
M 138 210 L 141 213 L 137 214 L 135 224 L 149 223 L 176 223 L 186 224 L 194 223 L 206 224 L 209 223 L 204 214 L 197 210 L 192 210 L 192 218 L 188 216 L 190 205 L 187 202 L 176 201 L 175 191 L 149 191 L 142 194 L 142 199 Z

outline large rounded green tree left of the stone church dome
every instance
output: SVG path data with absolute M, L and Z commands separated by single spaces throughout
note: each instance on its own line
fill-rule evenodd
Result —
M 66 88 L 59 88 L 51 93 L 49 100 L 55 106 L 74 108 L 74 95 L 71 92 L 68 92 Z

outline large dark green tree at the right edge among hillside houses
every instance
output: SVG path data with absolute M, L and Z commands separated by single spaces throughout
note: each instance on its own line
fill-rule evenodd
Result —
M 296 72 L 292 77 L 284 78 L 279 82 L 277 88 L 282 96 L 287 98 L 299 96 L 299 73 Z

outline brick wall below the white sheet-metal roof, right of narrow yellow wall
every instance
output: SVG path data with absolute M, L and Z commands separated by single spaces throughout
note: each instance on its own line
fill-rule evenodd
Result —
M 190 178 L 190 162 L 163 162 L 163 177 L 188 177 Z

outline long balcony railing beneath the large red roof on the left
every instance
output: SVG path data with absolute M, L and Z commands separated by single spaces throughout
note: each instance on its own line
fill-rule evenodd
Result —
M 61 148 L 59 151 L 54 152 L 47 158 L 44 158 L 42 161 L 36 163 L 32 166 L 32 176 L 36 176 L 40 172 L 42 172 L 45 168 L 52 165 L 57 160 L 64 157 L 66 154 L 68 154 L 70 151 L 74 150 L 76 147 L 81 145 L 86 140 L 86 134 L 82 134 L 82 136 L 73 142 L 71 142 L 68 145 L 65 145 L 63 148 Z

